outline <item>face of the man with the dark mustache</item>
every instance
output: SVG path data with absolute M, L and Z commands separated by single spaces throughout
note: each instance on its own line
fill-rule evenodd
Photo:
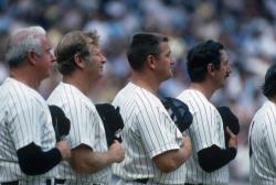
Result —
M 225 79 L 230 76 L 231 68 L 229 66 L 229 56 L 227 53 L 222 50 L 221 51 L 221 67 L 216 70 L 215 75 L 215 83 L 217 84 L 219 88 L 225 85 Z

